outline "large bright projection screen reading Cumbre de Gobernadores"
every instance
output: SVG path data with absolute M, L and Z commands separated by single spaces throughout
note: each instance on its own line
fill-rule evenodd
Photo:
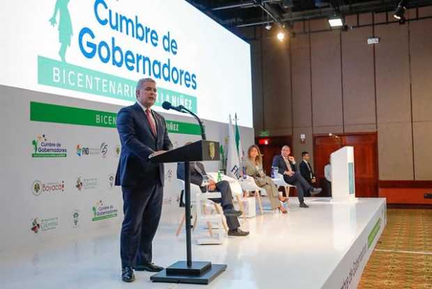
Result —
M 8 1 L 0 24 L 0 84 L 127 105 L 137 79 L 153 77 L 156 109 L 169 100 L 253 126 L 249 45 L 186 1 Z

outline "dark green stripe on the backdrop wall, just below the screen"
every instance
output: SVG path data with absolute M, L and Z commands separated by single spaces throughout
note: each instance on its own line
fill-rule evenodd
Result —
M 43 102 L 30 102 L 30 120 L 45 123 L 65 123 L 69 125 L 88 125 L 93 127 L 116 127 L 117 114 L 109 111 L 65 107 Z M 200 135 L 199 125 L 165 120 L 168 132 L 173 134 Z

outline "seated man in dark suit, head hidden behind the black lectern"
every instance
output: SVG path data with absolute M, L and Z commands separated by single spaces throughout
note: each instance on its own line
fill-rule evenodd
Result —
M 185 180 L 185 163 L 183 162 L 177 164 L 177 178 Z M 198 185 L 203 193 L 212 191 L 220 192 L 222 198 L 212 198 L 211 200 L 216 203 L 221 203 L 222 210 L 224 210 L 224 215 L 226 217 L 226 224 L 228 224 L 229 228 L 229 236 L 249 235 L 249 232 L 240 229 L 238 217 L 242 212 L 234 210 L 233 195 L 231 194 L 229 182 L 226 180 L 215 182 L 209 178 L 201 162 L 190 163 L 190 182 L 191 184 Z

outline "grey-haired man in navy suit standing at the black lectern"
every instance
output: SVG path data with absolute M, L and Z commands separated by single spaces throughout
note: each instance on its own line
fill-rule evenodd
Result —
M 125 282 L 134 281 L 133 270 L 163 270 L 151 262 L 151 243 L 162 211 L 164 166 L 149 158 L 173 147 L 163 116 L 151 109 L 157 97 L 156 82 L 140 79 L 135 94 L 137 102 L 118 111 L 116 121 L 121 141 L 116 185 L 123 192 L 120 254 Z

